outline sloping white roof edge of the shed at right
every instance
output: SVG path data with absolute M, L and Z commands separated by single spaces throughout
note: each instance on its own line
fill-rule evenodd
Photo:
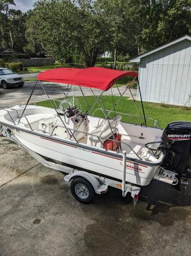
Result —
M 177 38 L 177 39 L 175 39 L 174 41 L 171 41 L 171 42 L 169 42 L 169 43 L 163 44 L 162 46 L 159 46 L 159 47 L 157 47 L 157 48 L 155 48 L 155 49 L 153 49 L 153 50 L 149 50 L 149 51 L 146 52 L 146 53 L 142 53 L 142 54 L 140 54 L 140 55 L 138 55 L 138 56 L 135 56 L 134 58 L 130 59 L 129 61 L 131 61 L 131 62 L 140 62 L 141 58 L 144 58 L 145 56 L 148 56 L 148 55 L 150 55 L 150 54 L 156 53 L 156 52 L 158 52 L 159 50 L 162 50 L 162 49 L 164 49 L 164 48 L 166 48 L 166 47 L 169 47 L 169 46 L 171 46 L 171 45 L 173 45 L 173 44 L 176 44 L 176 43 L 179 43 L 179 42 L 181 42 L 181 41 L 184 41 L 185 39 L 188 39 L 189 41 L 191 41 L 191 36 L 185 35 L 185 36 L 183 36 L 183 37 Z

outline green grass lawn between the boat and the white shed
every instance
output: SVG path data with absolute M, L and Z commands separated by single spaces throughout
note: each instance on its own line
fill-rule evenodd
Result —
M 83 112 L 86 112 L 87 107 L 85 104 L 85 100 L 82 96 L 77 97 L 81 103 L 81 110 Z M 110 110 L 113 105 L 112 96 L 102 96 L 103 103 L 105 105 L 105 109 Z M 118 96 L 114 96 L 114 101 L 118 99 Z M 91 106 L 93 105 L 95 99 L 93 96 L 86 96 L 86 100 L 88 104 Z M 56 102 L 56 101 L 55 101 Z M 140 101 L 136 101 L 136 104 L 139 107 L 140 112 L 141 111 L 141 103 Z M 46 107 L 52 107 L 49 100 L 46 101 L 40 101 L 37 103 L 39 106 L 46 106 Z M 90 112 L 90 115 L 94 112 L 94 110 L 100 108 L 97 104 L 93 110 Z M 174 121 L 191 121 L 191 108 L 186 107 L 178 107 L 178 106 L 170 106 L 170 105 L 163 105 L 163 104 L 156 104 L 156 103 L 144 103 L 145 108 L 145 114 L 147 117 L 151 117 L 154 120 L 158 121 L 158 124 L 160 127 L 165 128 L 166 125 L 170 122 Z M 120 102 L 115 107 L 116 112 L 123 112 L 123 113 L 129 113 L 132 115 L 139 115 L 138 111 L 136 110 L 135 104 L 133 100 L 129 100 L 127 97 L 122 97 Z M 94 116 L 98 117 L 104 117 L 102 111 L 97 111 Z M 114 117 L 114 113 L 111 115 L 111 117 Z M 129 116 L 122 115 L 122 121 L 123 122 L 132 122 L 132 118 Z M 136 124 L 141 124 L 142 121 L 139 117 L 134 117 L 134 121 Z M 147 126 L 153 126 L 153 122 L 150 120 L 147 120 Z

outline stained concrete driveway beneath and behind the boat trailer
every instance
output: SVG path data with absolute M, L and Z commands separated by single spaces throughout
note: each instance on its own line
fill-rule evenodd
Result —
M 25 104 L 33 86 L 1 88 L 0 106 Z M 52 84 L 47 90 L 59 96 Z M 39 100 L 40 89 L 35 95 Z M 86 205 L 71 196 L 63 177 L 0 138 L 1 256 L 190 255 L 191 187 L 181 192 L 154 180 L 136 207 L 111 188 Z

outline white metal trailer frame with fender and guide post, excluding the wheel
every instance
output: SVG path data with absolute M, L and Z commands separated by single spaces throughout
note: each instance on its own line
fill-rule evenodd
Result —
M 28 149 L 27 146 L 23 145 L 15 135 L 11 135 L 9 129 L 7 127 L 2 127 L 0 129 L 0 135 L 5 136 L 13 140 L 17 145 L 19 145 L 23 150 L 29 153 L 32 157 L 34 157 L 38 162 L 43 164 L 45 167 L 52 168 L 58 170 L 61 173 L 66 174 L 63 182 L 65 184 L 69 184 L 71 180 L 75 178 L 83 178 L 87 180 L 93 187 L 94 192 L 98 195 L 103 195 L 108 192 L 109 186 L 114 187 L 115 189 L 122 190 L 122 197 L 126 197 L 128 193 L 132 196 L 134 200 L 134 206 L 139 198 L 139 192 L 141 190 L 140 187 L 134 186 L 133 184 L 127 183 L 126 181 L 126 151 L 123 151 L 123 172 L 121 181 L 116 181 L 114 179 L 105 178 L 103 176 L 99 176 L 96 174 L 89 173 L 88 171 L 78 170 L 76 168 L 71 168 L 64 166 L 63 164 L 59 164 L 56 162 L 51 162 L 46 160 L 44 157 L 40 156 L 38 153 Z M 79 198 L 80 199 L 80 198 Z M 80 200 L 79 200 L 80 201 Z

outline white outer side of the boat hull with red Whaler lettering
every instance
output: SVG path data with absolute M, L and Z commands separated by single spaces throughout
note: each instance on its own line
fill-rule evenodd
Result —
M 10 128 L 10 127 L 9 127 Z M 41 136 L 12 130 L 16 138 L 30 150 L 56 161 L 87 169 L 93 173 L 122 180 L 122 154 L 110 154 L 103 149 L 92 149 L 68 140 L 57 140 L 53 136 Z M 126 161 L 126 181 L 141 186 L 150 184 L 158 165 L 139 161 Z

